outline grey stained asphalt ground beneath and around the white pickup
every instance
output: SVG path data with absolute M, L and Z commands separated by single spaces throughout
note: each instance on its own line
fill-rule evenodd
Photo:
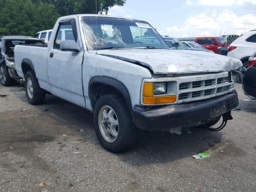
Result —
M 0 191 L 255 192 L 256 100 L 236 89 L 241 111 L 222 131 L 141 131 L 134 148 L 112 154 L 92 113 L 52 95 L 32 106 L 24 88 L 0 85 Z M 200 152 L 210 157 L 192 158 Z

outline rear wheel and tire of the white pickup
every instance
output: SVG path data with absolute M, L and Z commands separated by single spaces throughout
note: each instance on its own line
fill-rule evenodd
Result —
M 25 75 L 25 90 L 30 104 L 37 105 L 44 102 L 45 91 L 40 88 L 38 80 L 32 71 L 28 71 Z

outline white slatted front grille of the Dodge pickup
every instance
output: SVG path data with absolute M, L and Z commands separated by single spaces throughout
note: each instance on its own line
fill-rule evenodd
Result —
M 204 80 L 190 82 L 184 82 L 186 81 L 184 77 L 178 86 L 178 102 L 202 100 L 229 92 L 234 83 L 229 82 L 228 72 L 222 73 L 222 76 L 219 78 L 218 75 L 211 74 L 203 77 Z

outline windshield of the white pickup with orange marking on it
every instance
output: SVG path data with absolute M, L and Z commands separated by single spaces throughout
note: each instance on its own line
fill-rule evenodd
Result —
M 106 17 L 83 17 L 84 36 L 89 50 L 111 48 L 168 49 L 162 37 L 148 23 Z

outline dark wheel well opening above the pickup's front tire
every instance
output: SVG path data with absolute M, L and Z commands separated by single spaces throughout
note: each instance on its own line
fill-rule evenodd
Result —
M 89 97 L 91 100 L 92 109 L 94 110 L 94 106 L 97 100 L 104 94 L 117 94 L 124 98 L 122 94 L 114 87 L 101 83 L 94 83 L 90 86 Z

